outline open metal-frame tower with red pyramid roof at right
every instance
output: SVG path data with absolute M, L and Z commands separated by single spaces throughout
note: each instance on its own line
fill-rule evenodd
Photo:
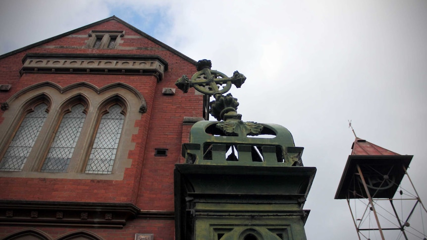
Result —
M 357 138 L 335 199 L 346 199 L 359 240 L 427 240 L 427 210 L 407 172 L 412 155 Z

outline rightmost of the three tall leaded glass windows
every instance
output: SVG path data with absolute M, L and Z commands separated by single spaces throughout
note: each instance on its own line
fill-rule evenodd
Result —
M 109 108 L 101 118 L 85 173 L 111 173 L 123 128 L 124 115 L 120 105 Z

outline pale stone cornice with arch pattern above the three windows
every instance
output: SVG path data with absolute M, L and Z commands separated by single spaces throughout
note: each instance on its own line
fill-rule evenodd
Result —
M 121 54 L 27 54 L 24 73 L 89 73 L 154 75 L 159 81 L 167 62 L 158 55 Z

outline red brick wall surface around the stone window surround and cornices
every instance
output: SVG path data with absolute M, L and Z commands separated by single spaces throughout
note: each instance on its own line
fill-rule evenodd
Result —
M 143 210 L 173 211 L 173 168 L 180 159 L 182 136 L 188 136 L 189 128 L 184 128 L 184 116 L 202 117 L 203 96 L 194 95 L 194 90 L 183 94 L 176 90 L 173 96 L 161 94 L 162 88 L 176 88 L 176 79 L 183 74 L 191 76 L 196 67 L 180 56 L 161 48 L 146 38 L 121 38 L 120 47 L 139 47 L 138 49 L 88 49 L 85 41 L 90 30 L 125 30 L 126 36 L 140 36 L 116 21 L 108 21 L 90 29 L 82 30 L 71 36 L 45 43 L 0 59 L 0 84 L 11 84 L 8 92 L 0 93 L 0 102 L 22 88 L 38 82 L 51 81 L 61 87 L 85 81 L 101 88 L 114 82 L 123 82 L 134 87 L 147 101 L 148 111 L 136 121 L 138 134 L 132 136 L 135 149 L 129 151 L 132 167 L 126 169 L 122 181 L 108 180 L 71 180 L 71 179 L 34 179 L 34 178 L 0 178 L 0 200 L 42 200 L 42 201 L 83 201 L 83 202 L 130 202 Z M 154 76 L 139 75 L 104 75 L 104 74 L 36 74 L 19 75 L 22 58 L 26 53 L 104 53 L 104 54 L 149 54 L 160 55 L 168 63 L 168 71 L 157 83 Z M 137 111 L 138 109 L 130 109 Z M 0 123 L 3 118 L 0 111 Z M 184 142 L 187 142 L 188 139 Z M 167 156 L 155 157 L 155 148 L 167 148 Z M 167 222 L 167 224 L 165 224 Z M 129 234 L 133 239 L 135 233 L 148 231 L 155 233 L 156 240 L 173 239 L 173 221 L 135 220 L 124 230 L 95 229 L 100 236 L 117 239 L 122 234 Z M 138 228 L 138 231 L 136 230 Z M 1 229 L 7 233 L 19 229 L 11 227 Z M 59 236 L 74 229 L 39 228 L 52 236 Z M 117 232 L 115 232 L 117 231 Z M 1 232 L 0 232 L 1 233 Z M 0 237 L 4 236 L 0 234 Z M 127 235 L 126 235 L 127 236 Z M 114 238 L 115 239 L 115 238 Z

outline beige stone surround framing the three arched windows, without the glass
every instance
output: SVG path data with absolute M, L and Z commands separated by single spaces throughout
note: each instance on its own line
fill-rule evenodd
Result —
M 29 86 L 8 99 L 10 108 L 2 112 L 3 122 L 0 124 L 0 149 L 7 148 L 11 142 L 14 130 L 19 127 L 20 121 L 25 116 L 25 109 L 37 100 L 44 99 L 50 110 L 36 143 L 31 150 L 28 160 L 21 172 L 0 171 L 1 176 L 8 177 L 31 177 L 31 178 L 65 178 L 65 179 L 105 179 L 120 180 L 126 168 L 132 164 L 128 158 L 129 151 L 135 148 L 132 136 L 138 133 L 139 126 L 136 121 L 141 120 L 141 112 L 138 109 L 143 103 L 146 109 L 144 97 L 132 86 L 123 83 L 114 83 L 97 88 L 86 82 L 75 83 L 64 88 L 52 82 L 38 83 Z M 59 128 L 64 114 L 73 112 L 72 107 L 81 103 L 84 106 L 86 119 L 81 134 L 76 143 L 79 151 L 74 151 L 66 171 L 62 167 L 53 167 L 57 170 L 54 174 L 50 171 L 41 171 L 45 159 L 49 154 L 55 135 L 53 133 Z M 126 116 L 123 121 L 120 143 L 117 148 L 114 166 L 111 174 L 87 174 L 85 169 L 95 139 L 98 124 L 102 113 L 108 107 L 118 104 L 121 114 Z M 0 159 L 4 152 L 0 152 Z M 61 164 L 58 164 L 63 166 Z M 52 168 L 52 167 L 51 167 Z M 50 169 L 50 168 L 49 168 Z

